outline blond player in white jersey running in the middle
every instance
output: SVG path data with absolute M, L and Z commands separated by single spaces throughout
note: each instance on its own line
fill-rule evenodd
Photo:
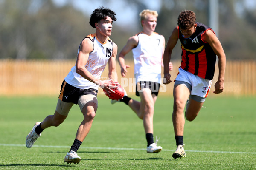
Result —
M 136 95 L 140 96 L 140 102 L 128 96 L 124 96 L 119 101 L 125 102 L 140 119 L 143 119 L 148 153 L 158 153 L 162 150 L 162 147 L 157 146 L 158 140 L 154 142 L 153 139 L 154 104 L 160 88 L 161 64 L 165 47 L 164 37 L 154 32 L 157 16 L 157 11 L 148 9 L 140 13 L 142 32 L 130 37 L 118 56 L 121 74 L 125 77 L 127 68 L 130 67 L 125 65 L 125 55 L 130 51 L 133 52 Z M 172 63 L 169 65 L 169 70 L 172 70 Z M 115 102 L 116 100 L 111 101 L 111 103 Z

